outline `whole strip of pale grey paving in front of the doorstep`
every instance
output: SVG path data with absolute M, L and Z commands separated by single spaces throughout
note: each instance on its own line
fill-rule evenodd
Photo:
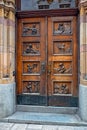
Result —
M 53 126 L 35 124 L 0 123 L 0 130 L 87 130 L 87 126 Z

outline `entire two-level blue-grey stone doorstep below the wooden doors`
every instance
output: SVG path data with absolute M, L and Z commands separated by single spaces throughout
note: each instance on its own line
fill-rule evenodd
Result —
M 24 107 L 26 109 L 24 109 Z M 61 112 L 59 113 L 60 108 L 58 107 L 55 108 L 55 107 L 37 106 L 36 108 L 38 109 L 35 109 L 35 107 L 36 106 L 31 106 L 31 107 L 17 106 L 17 111 L 13 115 L 7 118 L 3 118 L 0 121 L 9 122 L 9 123 L 28 123 L 28 124 L 41 124 L 41 125 L 87 126 L 87 123 L 83 122 L 78 116 L 76 112 L 77 110 L 76 108 L 75 110 L 74 108 L 73 109 L 61 108 Z M 31 108 L 33 108 L 32 111 L 30 111 Z M 52 111 L 52 109 L 54 111 Z M 65 111 L 63 111 L 63 109 L 65 109 Z M 70 111 L 68 111 L 70 109 L 71 109 L 71 113 Z

